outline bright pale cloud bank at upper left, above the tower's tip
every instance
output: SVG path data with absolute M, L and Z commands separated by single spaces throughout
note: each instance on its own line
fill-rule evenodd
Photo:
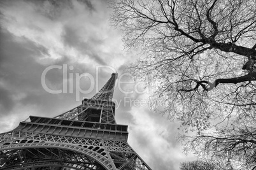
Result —
M 113 48 L 122 48 L 122 43 L 109 27 L 103 5 L 94 1 L 6 1 L 0 8 L 1 24 L 14 36 L 47 49 L 38 56 L 40 64 L 66 56 L 85 64 L 112 65 L 124 61 L 111 54 Z

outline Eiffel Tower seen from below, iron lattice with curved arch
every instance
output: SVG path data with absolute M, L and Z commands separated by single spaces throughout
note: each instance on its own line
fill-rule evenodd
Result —
M 57 117 L 30 116 L 0 134 L 0 169 L 151 170 L 127 143 L 115 120 L 117 73 L 91 99 Z

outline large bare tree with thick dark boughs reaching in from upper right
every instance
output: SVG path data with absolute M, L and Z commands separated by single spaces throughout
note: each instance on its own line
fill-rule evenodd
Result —
M 199 145 L 210 148 L 207 154 L 217 157 L 217 148 L 226 152 L 232 145 L 225 160 L 245 166 L 254 143 L 229 138 L 243 139 L 241 129 L 255 131 L 255 124 L 234 122 L 254 118 L 248 115 L 256 105 L 256 2 L 117 0 L 110 6 L 127 50 L 141 52 L 129 68 L 148 87 L 153 83 L 152 109 L 180 121 L 185 131 L 196 130 L 192 141 L 212 144 Z M 187 143 L 190 149 L 194 142 Z M 240 146 L 245 152 L 237 154 Z

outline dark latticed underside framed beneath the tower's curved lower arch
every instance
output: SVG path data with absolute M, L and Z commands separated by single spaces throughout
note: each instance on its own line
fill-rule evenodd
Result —
M 12 152 L 11 152 L 12 151 Z M 11 153 L 24 153 L 5 155 L 9 162 L 0 164 L 0 169 L 17 169 L 20 167 L 39 167 L 51 164 L 53 166 L 65 166 L 77 169 L 103 168 L 96 160 L 74 151 L 60 148 L 26 148 L 21 150 L 8 150 Z M 0 160 L 1 162 L 1 160 Z

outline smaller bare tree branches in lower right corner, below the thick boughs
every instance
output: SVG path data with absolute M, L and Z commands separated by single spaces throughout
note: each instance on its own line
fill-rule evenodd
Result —
M 185 136 L 185 151 L 197 150 L 224 169 L 256 169 L 255 124 L 255 114 L 247 115 L 215 133 Z

